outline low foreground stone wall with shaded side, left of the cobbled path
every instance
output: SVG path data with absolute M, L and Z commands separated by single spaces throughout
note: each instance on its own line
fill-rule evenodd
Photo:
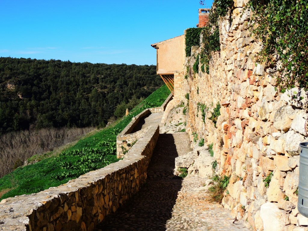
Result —
M 139 191 L 158 136 L 159 126 L 153 126 L 124 160 L 59 187 L 2 200 L 0 230 L 94 230 Z

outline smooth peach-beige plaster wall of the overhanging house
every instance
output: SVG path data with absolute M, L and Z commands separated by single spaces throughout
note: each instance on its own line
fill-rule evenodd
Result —
M 185 61 L 184 47 L 184 35 L 157 43 L 157 74 L 183 71 Z

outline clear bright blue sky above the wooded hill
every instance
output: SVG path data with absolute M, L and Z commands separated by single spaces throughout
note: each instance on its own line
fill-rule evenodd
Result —
M 0 56 L 156 65 L 150 45 L 196 27 L 199 8 L 199 0 L 0 0 Z

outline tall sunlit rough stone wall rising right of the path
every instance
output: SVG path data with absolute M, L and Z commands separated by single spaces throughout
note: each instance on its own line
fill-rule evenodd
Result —
M 189 93 L 186 131 L 192 141 L 197 132 L 207 145 L 213 143 L 215 172 L 230 176 L 222 204 L 232 216 L 246 220 L 253 230 L 302 230 L 295 229 L 308 225 L 297 210 L 298 144 L 307 141 L 302 109 L 307 96 L 297 87 L 276 90 L 277 73 L 256 63 L 262 44 L 249 32 L 247 0 L 234 2 L 231 25 L 228 16 L 219 21 L 221 51 L 210 61 L 210 74 L 199 65 L 199 74 L 191 71 L 187 80 L 175 76 L 179 86 L 173 100 L 185 102 Z M 186 59 L 190 70 L 200 52 L 194 49 Z M 206 105 L 205 122 L 198 103 Z M 221 115 L 215 126 L 208 118 L 217 103 Z M 267 188 L 264 180 L 271 173 Z

